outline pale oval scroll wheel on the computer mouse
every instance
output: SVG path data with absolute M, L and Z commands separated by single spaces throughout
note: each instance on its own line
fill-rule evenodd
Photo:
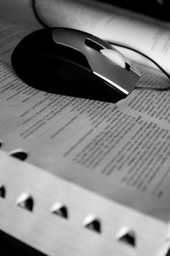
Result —
M 120 67 L 123 67 L 123 68 L 126 67 L 123 56 L 120 53 L 118 53 L 116 50 L 102 49 L 100 50 L 100 52 L 107 58 L 111 59 L 111 61 L 114 61 L 115 64 L 118 64 Z

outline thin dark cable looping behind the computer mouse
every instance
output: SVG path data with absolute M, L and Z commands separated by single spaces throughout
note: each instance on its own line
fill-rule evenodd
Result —
M 32 0 L 31 1 L 31 5 L 32 5 L 32 10 L 34 12 L 34 15 L 35 15 L 35 18 L 36 20 L 39 21 L 39 23 L 45 27 L 45 28 L 49 28 L 50 26 L 48 26 L 40 17 L 39 17 L 39 14 L 37 12 L 37 9 L 36 9 L 36 0 Z M 139 55 L 141 56 L 144 56 L 144 58 L 146 59 L 149 59 L 153 64 L 155 64 L 155 66 L 158 67 L 158 69 L 160 69 L 164 75 L 166 75 L 167 78 L 169 78 L 170 80 L 170 75 L 168 74 L 168 72 L 166 72 L 165 69 L 163 69 L 163 67 L 161 67 L 156 61 L 154 61 L 152 58 L 150 58 L 150 56 L 147 56 L 145 53 L 142 53 L 140 50 L 136 50 L 136 48 L 133 48 L 131 46 L 128 46 L 128 45 L 123 45 L 123 44 L 120 44 L 118 42 L 111 42 L 111 41 L 107 41 L 110 45 L 115 45 L 117 47 L 120 47 L 120 48 L 125 48 L 125 49 L 128 49 L 128 50 L 132 50 L 134 51 L 135 53 L 138 53 Z M 144 87 L 144 86 L 137 86 L 135 87 L 134 89 L 144 89 L 144 90 L 152 90 L 152 91 L 169 91 L 170 89 L 170 86 L 169 87 L 166 87 L 166 88 L 155 88 L 155 87 Z

